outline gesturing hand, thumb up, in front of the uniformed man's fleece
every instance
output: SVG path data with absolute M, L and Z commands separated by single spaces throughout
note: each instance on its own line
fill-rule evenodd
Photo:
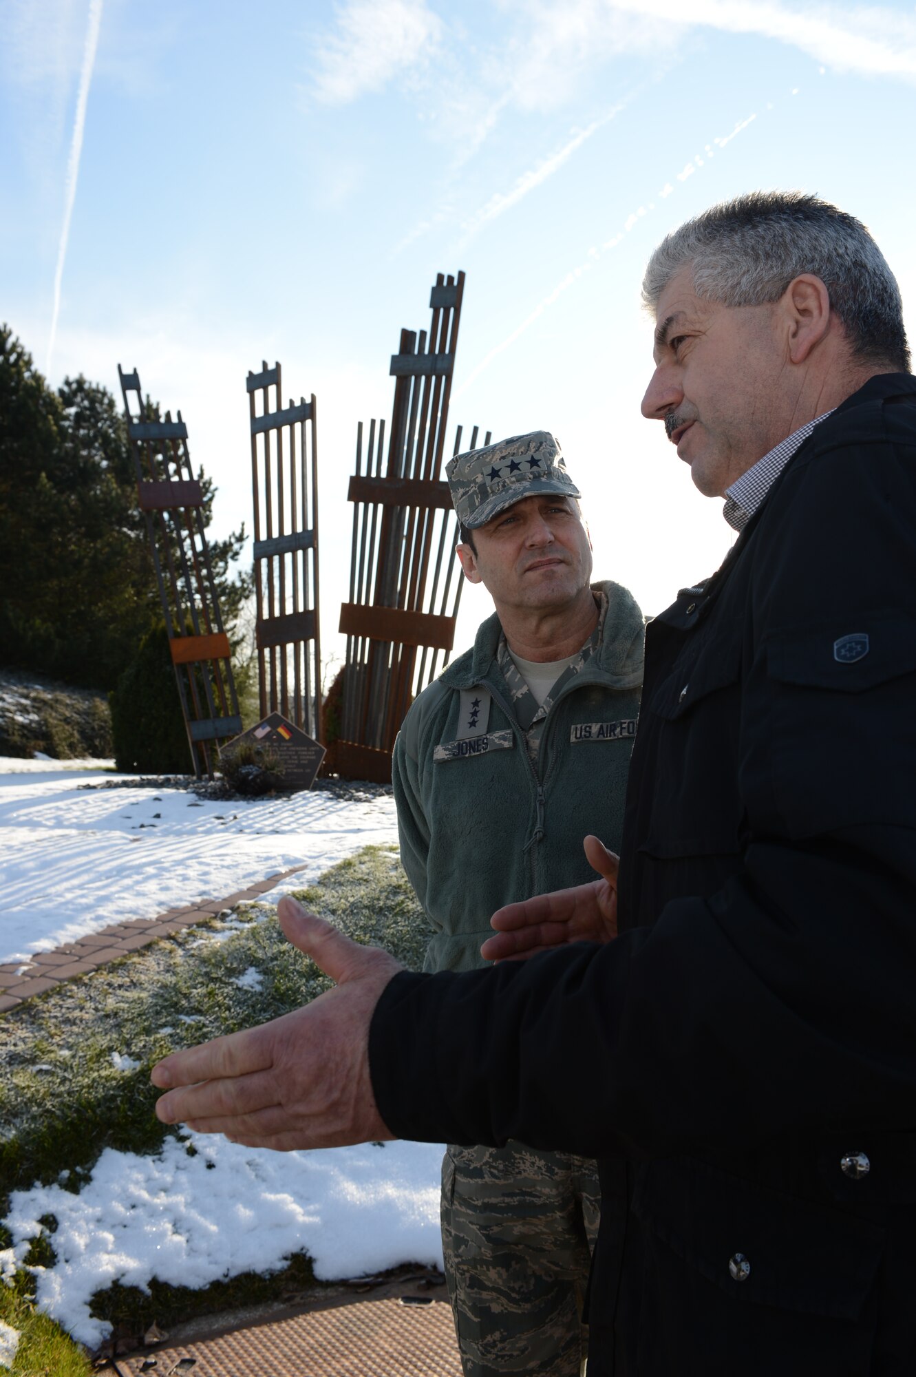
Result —
M 525 961 L 567 942 L 611 942 L 616 938 L 620 858 L 593 836 L 585 839 L 583 847 L 589 865 L 600 879 L 498 909 L 490 920 L 497 935 L 487 938 L 480 947 L 484 960 Z

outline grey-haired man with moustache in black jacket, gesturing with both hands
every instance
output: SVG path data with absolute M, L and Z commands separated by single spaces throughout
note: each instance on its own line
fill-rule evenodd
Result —
M 462 976 L 396 972 L 285 901 L 287 935 L 338 987 L 166 1059 L 158 1113 L 279 1148 L 516 1137 L 601 1158 L 590 1377 L 909 1377 L 916 379 L 899 295 L 857 220 L 796 194 L 682 226 L 644 293 L 644 413 L 740 534 L 648 629 L 619 894 L 596 881 L 502 910 L 484 954 L 575 945 Z M 578 940 L 615 909 L 616 939 Z

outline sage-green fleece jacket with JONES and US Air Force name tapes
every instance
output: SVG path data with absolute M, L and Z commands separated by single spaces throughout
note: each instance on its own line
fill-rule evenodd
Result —
M 602 636 L 550 706 L 536 766 L 497 665 L 495 613 L 404 719 L 392 778 L 402 861 L 435 929 L 426 971 L 484 965 L 480 946 L 503 903 L 593 880 L 589 832 L 619 850 L 644 622 L 626 588 L 593 587 L 608 595 Z M 462 738 L 476 686 L 488 690 L 488 722 Z

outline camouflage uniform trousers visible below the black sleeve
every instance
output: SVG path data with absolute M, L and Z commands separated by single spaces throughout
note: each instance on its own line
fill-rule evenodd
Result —
M 598 1234 L 593 1161 L 521 1143 L 452 1147 L 441 1239 L 465 1377 L 579 1377 Z

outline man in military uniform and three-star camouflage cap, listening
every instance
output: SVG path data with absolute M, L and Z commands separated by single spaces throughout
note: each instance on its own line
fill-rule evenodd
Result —
M 553 435 L 447 467 L 458 558 L 497 611 L 407 713 L 393 784 L 404 868 L 435 936 L 428 971 L 484 967 L 494 909 L 591 876 L 616 845 L 642 679 L 642 616 L 590 585 L 579 490 Z M 600 868 L 596 837 L 589 855 Z M 450 1146 L 441 1228 L 468 1377 L 578 1377 L 596 1164 L 521 1143 Z

